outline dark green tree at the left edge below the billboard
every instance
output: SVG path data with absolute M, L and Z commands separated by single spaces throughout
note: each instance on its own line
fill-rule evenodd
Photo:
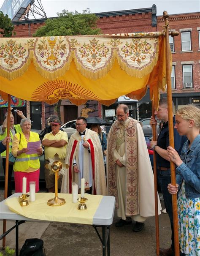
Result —
M 7 14 L 3 14 L 2 11 L 0 11 L 0 34 L 3 35 L 3 37 L 11 37 L 12 32 L 14 30 L 14 25 L 11 23 L 11 19 L 8 18 Z

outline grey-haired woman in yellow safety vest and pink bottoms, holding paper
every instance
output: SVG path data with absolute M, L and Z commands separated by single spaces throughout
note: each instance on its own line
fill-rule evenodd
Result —
M 22 193 L 22 180 L 23 177 L 26 177 L 26 191 L 30 191 L 29 182 L 35 181 L 35 191 L 38 192 L 40 176 L 39 156 L 42 155 L 43 149 L 41 144 L 36 149 L 34 149 L 34 144 L 32 144 L 32 149 L 27 148 L 27 143 L 40 141 L 38 133 L 30 131 L 31 120 L 28 118 L 22 119 L 20 126 L 22 132 L 14 135 L 12 146 L 12 154 L 16 157 L 13 166 L 15 191 Z

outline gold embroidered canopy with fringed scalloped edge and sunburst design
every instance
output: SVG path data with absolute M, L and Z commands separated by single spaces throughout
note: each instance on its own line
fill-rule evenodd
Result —
M 0 93 L 29 101 L 110 105 L 141 99 L 157 106 L 165 90 L 165 38 L 160 32 L 0 39 Z

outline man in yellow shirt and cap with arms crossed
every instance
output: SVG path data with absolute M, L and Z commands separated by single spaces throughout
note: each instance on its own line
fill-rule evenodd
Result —
M 49 163 L 49 158 L 54 158 L 55 154 L 58 154 L 60 159 L 65 158 L 66 149 L 68 144 L 68 134 L 64 131 L 60 131 L 61 122 L 59 119 L 54 119 L 51 122 L 51 133 L 46 133 L 42 145 L 45 147 L 45 166 Z M 55 191 L 55 177 L 49 175 L 49 169 L 44 168 L 44 176 L 46 181 L 46 188 L 49 192 Z M 59 176 L 58 188 L 61 188 L 62 175 Z

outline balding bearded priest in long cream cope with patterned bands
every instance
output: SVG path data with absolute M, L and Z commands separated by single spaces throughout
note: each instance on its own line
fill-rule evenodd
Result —
M 117 107 L 116 115 L 108 134 L 108 193 L 116 197 L 117 215 L 121 217 L 115 226 L 134 220 L 133 231 L 137 232 L 147 217 L 155 215 L 154 175 L 141 124 L 129 117 L 124 104 Z M 160 214 L 160 202 L 158 209 Z

